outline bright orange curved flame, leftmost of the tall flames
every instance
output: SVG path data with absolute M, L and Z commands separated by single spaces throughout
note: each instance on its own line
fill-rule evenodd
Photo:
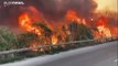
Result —
M 41 35 L 41 30 L 32 25 L 32 20 L 28 13 L 23 13 L 19 16 L 19 23 L 20 26 L 23 28 L 25 31 Z

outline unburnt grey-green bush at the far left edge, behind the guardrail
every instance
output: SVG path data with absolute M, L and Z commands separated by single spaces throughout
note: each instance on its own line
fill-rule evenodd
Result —
M 0 26 L 0 51 L 17 48 L 17 35 L 6 26 Z

